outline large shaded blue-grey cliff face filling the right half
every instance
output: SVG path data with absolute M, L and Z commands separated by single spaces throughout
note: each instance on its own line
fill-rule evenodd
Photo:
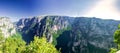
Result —
M 63 53 L 109 53 L 115 47 L 113 34 L 120 21 L 97 18 L 75 18 L 72 29 L 57 38 Z M 67 35 L 66 35 L 67 34 Z

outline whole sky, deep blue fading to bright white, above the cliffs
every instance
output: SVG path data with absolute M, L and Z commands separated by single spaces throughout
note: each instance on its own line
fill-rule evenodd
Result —
M 41 15 L 120 20 L 120 0 L 0 0 L 0 17 L 12 21 Z

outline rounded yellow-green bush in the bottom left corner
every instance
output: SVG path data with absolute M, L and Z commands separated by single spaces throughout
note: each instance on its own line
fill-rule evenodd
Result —
M 23 53 L 25 51 L 25 41 L 18 38 L 19 35 L 14 35 L 8 37 L 3 43 L 2 52 L 3 53 Z

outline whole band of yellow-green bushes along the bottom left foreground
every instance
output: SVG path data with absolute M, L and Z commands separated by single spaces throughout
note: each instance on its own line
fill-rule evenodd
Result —
M 0 34 L 0 53 L 60 53 L 54 45 L 48 43 L 45 37 L 34 37 L 29 44 L 22 39 L 20 34 L 4 38 Z

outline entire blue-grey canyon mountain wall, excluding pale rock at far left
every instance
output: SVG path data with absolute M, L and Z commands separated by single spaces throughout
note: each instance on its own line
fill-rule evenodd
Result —
M 87 17 L 40 16 L 22 18 L 17 30 L 29 43 L 45 36 L 62 53 L 108 53 L 116 47 L 113 34 L 120 21 Z

